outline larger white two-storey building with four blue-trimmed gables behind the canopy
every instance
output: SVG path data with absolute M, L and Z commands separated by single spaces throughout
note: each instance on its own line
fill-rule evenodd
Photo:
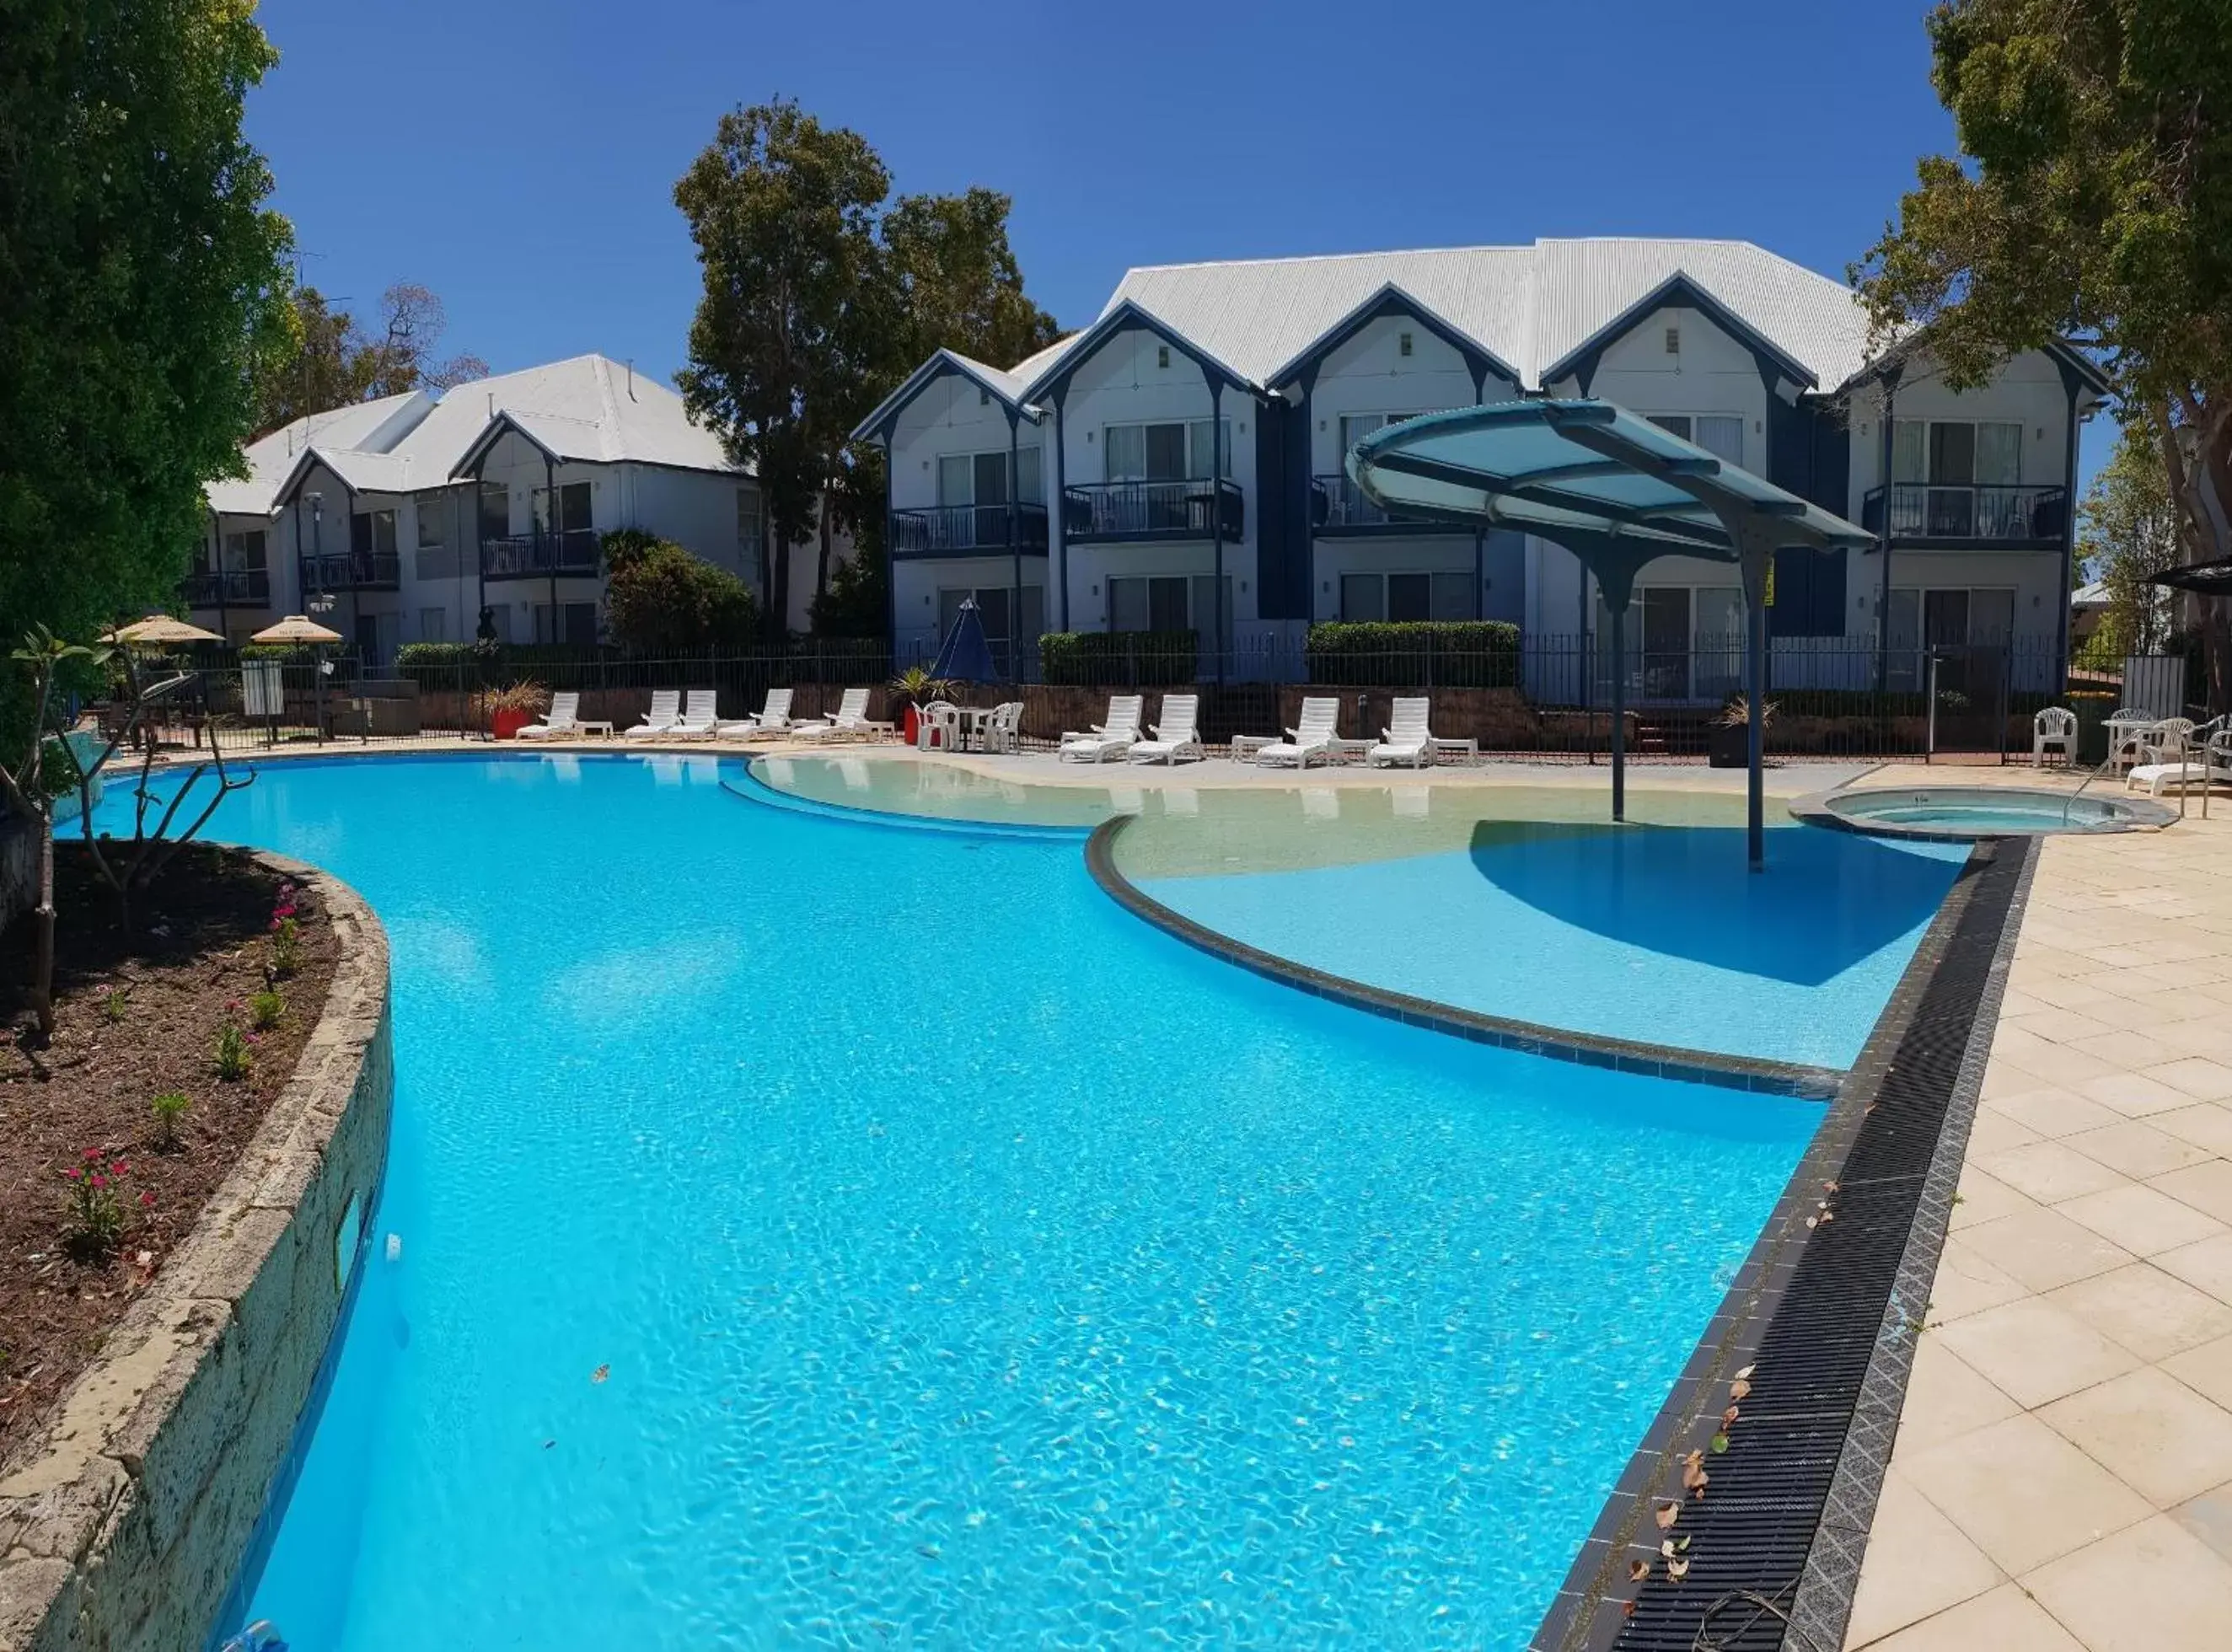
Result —
M 1853 292 L 1763 248 L 1587 239 L 1138 268 L 1029 362 L 937 353 L 857 435 L 891 455 L 899 659 L 973 594 L 1024 670 L 1042 630 L 1194 630 L 1208 652 L 1219 616 L 1245 670 L 1312 621 L 1598 634 L 1562 547 L 1388 518 L 1341 473 L 1384 422 L 1594 395 L 1877 529 L 1786 551 L 1770 636 L 1846 663 L 1888 641 L 1904 688 L 1931 645 L 2018 645 L 2040 674 L 2067 647 L 2076 431 L 2103 391 L 2065 348 L 1953 391 L 1922 348 L 1868 359 Z M 1641 697 L 1728 688 L 1732 567 L 1652 563 L 1636 614 Z

